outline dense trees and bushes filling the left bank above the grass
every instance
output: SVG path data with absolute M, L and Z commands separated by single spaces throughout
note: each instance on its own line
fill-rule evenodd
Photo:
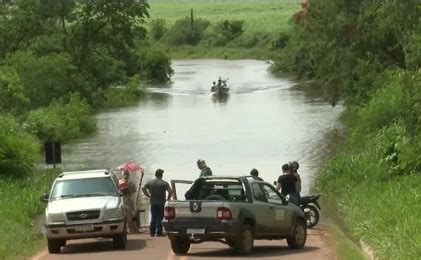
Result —
M 21 129 L 2 140 L 0 168 L 35 162 L 25 131 L 41 141 L 79 138 L 95 129 L 91 107 L 133 104 L 145 94 L 142 81 L 170 80 L 168 56 L 138 44 L 148 8 L 135 0 L 0 1 L 0 113 Z M 0 132 L 9 131 L 2 121 Z

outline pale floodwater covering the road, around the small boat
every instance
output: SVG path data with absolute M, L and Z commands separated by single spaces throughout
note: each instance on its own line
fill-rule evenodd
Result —
M 172 83 L 151 87 L 147 100 L 97 114 L 97 133 L 64 147 L 64 169 L 135 161 L 147 177 L 162 168 L 166 180 L 193 180 L 202 158 L 214 175 L 257 168 L 272 183 L 283 163 L 297 160 L 303 194 L 309 192 L 341 106 L 332 108 L 321 94 L 272 76 L 264 61 L 178 60 L 173 68 Z M 228 98 L 210 94 L 218 76 L 229 78 Z

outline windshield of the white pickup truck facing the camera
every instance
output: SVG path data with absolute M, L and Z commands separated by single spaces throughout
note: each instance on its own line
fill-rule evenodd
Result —
M 117 190 L 111 178 L 91 178 L 59 180 L 54 185 L 52 199 L 117 196 Z

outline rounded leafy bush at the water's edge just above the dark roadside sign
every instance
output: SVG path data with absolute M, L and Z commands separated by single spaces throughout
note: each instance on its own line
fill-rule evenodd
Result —
M 88 103 L 78 95 L 54 101 L 48 107 L 32 110 L 28 130 L 41 140 L 69 141 L 95 130 L 95 119 Z

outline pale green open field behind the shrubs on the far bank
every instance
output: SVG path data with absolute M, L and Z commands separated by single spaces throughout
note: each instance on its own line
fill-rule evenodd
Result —
M 279 0 L 151 0 L 150 18 L 175 20 L 194 16 L 210 22 L 245 21 L 245 33 L 279 33 L 290 28 L 291 16 L 300 9 L 299 1 Z

